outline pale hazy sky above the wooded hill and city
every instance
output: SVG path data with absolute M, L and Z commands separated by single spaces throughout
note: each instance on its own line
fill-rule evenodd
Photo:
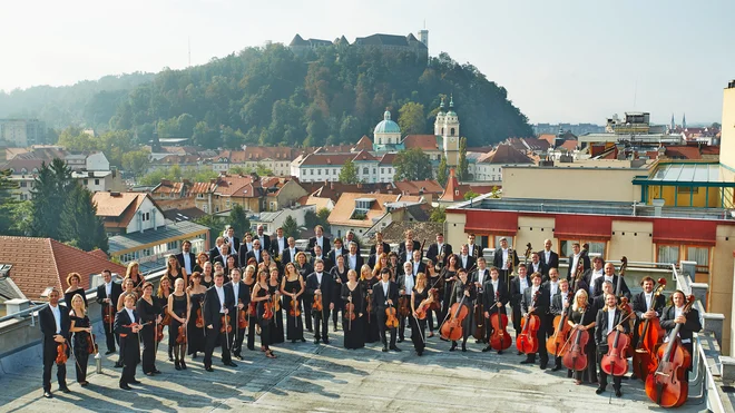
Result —
M 710 122 L 735 79 L 733 16 L 733 0 L 13 1 L 0 89 L 184 68 L 188 38 L 199 65 L 296 32 L 352 42 L 425 20 L 432 56 L 478 67 L 531 122 L 601 124 L 634 109 Z

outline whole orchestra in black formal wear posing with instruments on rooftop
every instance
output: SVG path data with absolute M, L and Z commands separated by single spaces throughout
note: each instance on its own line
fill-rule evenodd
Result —
M 380 343 L 383 352 L 400 352 L 398 344 L 409 328 L 418 356 L 435 333 L 450 352 L 467 352 L 471 336 L 482 352 L 503 354 L 516 344 L 521 364 L 538 362 L 546 370 L 551 363 L 552 372 L 564 366 L 576 384 L 597 384 L 598 394 L 611 380 L 620 397 L 628 358 L 634 364 L 630 378 L 644 381 L 647 391 L 650 385 L 665 392 L 666 385 L 656 381 L 670 363 L 660 358 L 672 347 L 690 353 L 693 333 L 702 328 L 684 293 L 674 292 L 667 303 L 665 281 L 645 277 L 643 292 L 631 296 L 624 279 L 627 260 L 616 272 L 599 256 L 590 260 L 578 243 L 571 245 L 567 276 L 560 277 L 559 255 L 548 239 L 542 250 L 532 252 L 528 244 L 517 254 L 501 237 L 488 263 L 473 234 L 457 248 L 459 254 L 443 234 L 435 234 L 424 257 L 425 242 L 413 239 L 412 230 L 395 252 L 378 233 L 363 260 L 354 234 L 330 239 L 321 226 L 314 234 L 306 250 L 284 237 L 282 228 L 270 237 L 258 227 L 242 240 L 228 228 L 208 254 L 193 254 L 185 242 L 180 254 L 168 257 L 156 292 L 137 263 L 128 265 L 121 285 L 104 271 L 97 302 L 105 354 L 119 352 L 115 366 L 122 368 L 120 389 L 140 384 L 138 364 L 148 376 L 160 373 L 156 355 L 164 327 L 175 368 L 186 370 L 186 356 L 203 353 L 207 372 L 214 371 L 215 348 L 222 364 L 237 367 L 233 357 L 243 360 L 245 347 L 256 351 L 256 336 L 261 352 L 276 358 L 273 345 L 305 342 L 305 331 L 313 333 L 314 344 L 330 344 L 330 328 L 343 330 L 345 348 Z M 55 288 L 39 315 L 46 397 L 52 396 L 53 364 L 59 390 L 69 392 L 66 361 L 74 355 L 84 386 L 88 357 L 98 352 L 80 277 L 72 273 L 67 281 L 67 306 L 59 305 L 61 294 Z M 514 336 L 506 331 L 510 323 Z M 682 368 L 687 377 L 688 370 Z

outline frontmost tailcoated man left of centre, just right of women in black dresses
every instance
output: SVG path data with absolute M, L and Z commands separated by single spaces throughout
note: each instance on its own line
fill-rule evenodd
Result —
M 204 296 L 204 325 L 206 326 L 207 342 L 204 347 L 204 370 L 214 372 L 212 368 L 212 353 L 217 343 L 222 347 L 222 362 L 226 366 L 237 367 L 229 355 L 229 336 L 232 333 L 220 333 L 222 317 L 229 314 L 235 307 L 235 296 L 232 291 L 225 288 L 224 274 L 215 274 L 215 285 L 209 287 Z

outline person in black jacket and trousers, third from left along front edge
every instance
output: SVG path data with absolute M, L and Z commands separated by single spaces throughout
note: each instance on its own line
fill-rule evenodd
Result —
M 135 380 L 135 371 L 140 363 L 140 330 L 141 319 L 135 309 L 135 294 L 125 296 L 125 307 L 115 314 L 115 333 L 120 336 L 120 360 L 122 361 L 122 374 L 120 375 L 120 389 L 133 390 L 130 384 L 140 384 Z

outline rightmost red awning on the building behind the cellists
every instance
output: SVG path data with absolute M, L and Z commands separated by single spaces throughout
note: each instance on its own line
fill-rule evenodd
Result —
M 717 223 L 698 219 L 654 219 L 654 243 L 688 244 L 714 247 L 717 239 Z

